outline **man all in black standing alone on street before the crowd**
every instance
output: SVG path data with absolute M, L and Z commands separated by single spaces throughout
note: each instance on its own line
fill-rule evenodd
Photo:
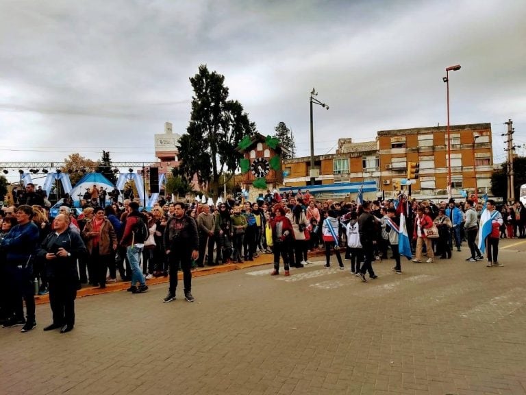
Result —
M 168 220 L 164 230 L 164 246 L 170 267 L 170 287 L 168 295 L 162 301 L 166 303 L 175 300 L 180 263 L 183 270 L 184 298 L 188 302 L 193 302 L 195 298 L 191 293 L 192 259 L 197 259 L 199 256 L 199 235 L 195 220 L 185 214 L 184 203 L 174 204 L 174 215 Z

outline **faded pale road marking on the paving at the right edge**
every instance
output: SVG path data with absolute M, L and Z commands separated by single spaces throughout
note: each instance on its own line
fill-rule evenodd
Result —
M 480 322 L 495 322 L 502 320 L 521 309 L 526 303 L 524 288 L 513 288 L 502 295 L 495 296 L 487 302 L 477 304 L 473 309 L 460 313 L 460 317 Z

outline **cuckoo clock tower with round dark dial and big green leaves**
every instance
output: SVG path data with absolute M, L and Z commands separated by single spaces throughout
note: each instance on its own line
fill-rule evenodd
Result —
M 277 139 L 257 133 L 251 138 L 246 137 L 238 149 L 243 154 L 240 160 L 242 187 L 249 191 L 251 202 L 264 196 L 267 189 L 272 191 L 283 184 L 283 148 Z

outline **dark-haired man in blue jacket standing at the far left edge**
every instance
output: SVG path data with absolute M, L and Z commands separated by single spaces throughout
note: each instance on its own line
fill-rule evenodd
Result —
M 8 309 L 10 318 L 4 328 L 23 325 L 22 332 L 29 332 L 36 326 L 35 297 L 33 287 L 33 261 L 38 243 L 38 226 L 32 222 L 33 208 L 25 204 L 16 208 L 16 222 L 0 248 L 6 254 L 5 272 L 8 285 Z M 23 302 L 26 319 L 24 320 Z

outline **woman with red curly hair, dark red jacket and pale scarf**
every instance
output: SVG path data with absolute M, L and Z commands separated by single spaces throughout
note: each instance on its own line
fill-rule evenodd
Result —
M 285 209 L 278 204 L 274 209 L 275 217 L 271 219 L 272 239 L 274 243 L 274 270 L 272 276 L 279 274 L 279 255 L 283 257 L 285 276 L 290 276 L 288 263 L 288 250 L 290 243 L 294 241 L 294 229 L 290 220 L 285 217 Z

